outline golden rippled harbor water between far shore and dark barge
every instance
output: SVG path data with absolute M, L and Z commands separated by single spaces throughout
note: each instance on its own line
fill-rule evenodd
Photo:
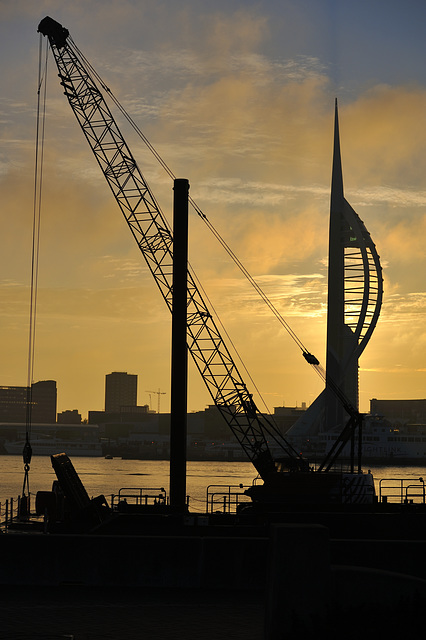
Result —
M 169 495 L 168 460 L 112 460 L 99 458 L 72 458 L 73 465 L 90 497 L 105 495 L 109 500 L 120 489 L 160 489 Z M 380 480 L 413 479 L 418 481 L 426 475 L 426 467 L 377 466 L 370 468 L 376 491 Z M 367 472 L 368 469 L 365 468 Z M 50 491 L 56 480 L 49 456 L 34 456 L 30 467 L 30 493 Z M 203 513 L 206 509 L 207 487 L 211 485 L 250 486 L 256 471 L 250 462 L 189 461 L 187 463 L 187 495 L 192 512 Z M 22 456 L 0 456 L 0 503 L 16 499 L 22 493 L 24 468 Z

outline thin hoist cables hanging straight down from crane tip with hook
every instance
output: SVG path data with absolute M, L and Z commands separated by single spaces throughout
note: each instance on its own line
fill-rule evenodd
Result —
M 38 83 L 37 83 L 37 119 L 36 119 L 36 139 L 35 139 L 35 163 L 34 163 L 34 193 L 33 193 L 33 233 L 32 233 L 32 255 L 31 255 L 31 283 L 30 283 L 30 311 L 29 311 L 29 332 L 28 332 L 28 370 L 27 370 L 27 401 L 26 401 L 26 431 L 25 444 L 22 452 L 24 461 L 24 482 L 22 486 L 21 513 L 28 513 L 30 482 L 29 471 L 32 457 L 31 447 L 31 422 L 32 422 L 32 385 L 34 381 L 34 361 L 35 361 L 35 330 L 37 315 L 37 293 L 38 293 L 38 272 L 39 272 L 39 251 L 40 251 L 40 220 L 41 220 L 41 192 L 43 181 L 43 154 L 44 154 L 44 133 L 46 116 L 46 75 L 47 75 L 48 47 L 46 47 L 46 59 L 44 68 L 42 63 L 42 35 L 40 34 L 39 63 L 38 63 Z M 43 81 L 44 76 L 44 81 Z M 44 84 L 43 95 L 41 87 Z M 41 104 L 41 100 L 43 103 Z

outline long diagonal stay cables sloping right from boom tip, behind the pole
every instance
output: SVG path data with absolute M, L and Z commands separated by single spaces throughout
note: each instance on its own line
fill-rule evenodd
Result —
M 163 167 L 164 171 L 169 175 L 170 178 L 172 178 L 172 180 L 175 180 L 176 176 L 173 173 L 173 171 L 170 169 L 170 167 L 167 165 L 167 163 L 163 160 L 163 158 L 160 156 L 160 154 L 154 148 L 154 146 L 149 142 L 148 138 L 145 136 L 145 134 L 140 129 L 140 127 L 137 125 L 137 123 L 133 120 L 133 118 L 129 115 L 129 113 L 124 109 L 124 107 L 121 105 L 119 100 L 114 96 L 114 94 L 112 93 L 111 89 L 104 83 L 104 81 L 102 80 L 102 78 L 100 77 L 98 72 L 94 69 L 94 67 L 90 64 L 90 62 L 87 60 L 87 58 L 84 56 L 84 54 L 77 47 L 75 42 L 72 40 L 71 36 L 68 37 L 68 41 L 70 42 L 71 47 L 75 50 L 75 53 L 79 57 L 81 57 L 81 59 L 84 61 L 86 67 L 88 69 L 90 69 L 90 72 L 93 74 L 93 76 L 96 78 L 96 80 L 100 83 L 100 85 L 102 86 L 104 91 L 110 96 L 111 100 L 113 101 L 113 103 L 115 104 L 117 109 L 120 111 L 120 113 L 124 116 L 124 118 L 130 124 L 130 126 L 133 128 L 133 130 L 137 133 L 139 138 L 144 142 L 144 144 L 151 151 L 151 153 L 156 158 L 156 160 L 159 162 L 159 164 Z M 302 355 L 305 358 L 305 360 L 310 365 L 313 366 L 313 368 L 315 369 L 316 373 L 320 376 L 320 378 L 323 381 L 325 381 L 325 378 L 326 378 L 325 371 L 324 371 L 324 368 L 321 366 L 319 360 L 313 354 L 311 354 L 308 351 L 308 349 L 303 344 L 302 340 L 297 336 L 297 334 L 293 331 L 293 329 L 290 327 L 288 322 L 283 318 L 283 316 L 280 314 L 278 309 L 275 307 L 275 305 L 272 303 L 272 301 L 268 298 L 266 293 L 263 291 L 263 289 L 261 288 L 259 283 L 256 282 L 256 280 L 253 278 L 253 276 L 249 273 L 249 271 L 246 269 L 246 267 L 242 264 L 242 262 L 239 260 L 239 258 L 236 256 L 236 254 L 232 251 L 232 249 L 229 247 L 229 245 L 224 240 L 224 238 L 220 235 L 220 233 L 217 231 L 217 229 L 213 226 L 213 224 L 207 218 L 205 213 L 203 213 L 203 211 L 200 209 L 200 207 L 194 202 L 194 200 L 191 198 L 191 196 L 189 196 L 189 203 L 191 204 L 191 206 L 193 207 L 193 209 L 197 213 L 197 215 L 205 222 L 207 228 L 214 235 L 214 237 L 218 240 L 218 242 L 222 245 L 223 249 L 230 256 L 230 258 L 234 261 L 236 266 L 240 269 L 241 273 L 245 276 L 245 278 L 250 282 L 250 284 L 253 286 L 253 288 L 257 291 L 259 296 L 263 299 L 265 304 L 269 307 L 269 309 L 272 311 L 274 316 L 277 318 L 277 320 L 281 323 L 281 325 L 287 331 L 287 333 L 292 338 L 292 340 L 296 343 L 296 345 L 302 351 Z

